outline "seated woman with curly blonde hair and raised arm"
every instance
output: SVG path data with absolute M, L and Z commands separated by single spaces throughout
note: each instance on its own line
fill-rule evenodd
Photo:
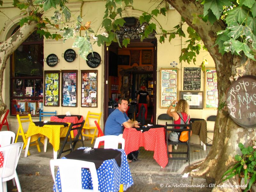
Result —
M 176 103 L 176 105 L 175 105 Z M 175 105 L 175 108 L 174 108 Z M 171 111 L 172 109 L 175 109 L 174 111 Z M 188 122 L 187 124 L 189 124 L 189 115 L 188 115 L 188 109 L 189 109 L 189 105 L 188 102 L 184 99 L 180 99 L 179 101 L 174 100 L 172 102 L 172 104 L 170 105 L 170 107 L 167 109 L 167 114 L 171 117 L 173 117 L 174 122 L 173 124 L 180 124 L 180 119 L 182 118 L 184 122 Z M 179 113 L 181 114 L 181 116 L 179 115 Z M 180 129 L 180 127 L 174 127 L 174 129 Z M 168 138 L 171 141 L 174 142 L 178 142 L 179 141 L 179 136 L 177 134 L 177 132 L 169 132 L 168 134 Z M 168 145 L 168 151 L 172 152 L 172 145 Z M 169 157 L 172 157 L 172 154 L 169 154 Z

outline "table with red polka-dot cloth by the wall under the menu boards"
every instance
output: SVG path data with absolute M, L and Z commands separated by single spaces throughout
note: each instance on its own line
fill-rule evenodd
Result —
M 55 115 L 51 116 L 50 121 L 63 122 L 63 123 L 82 123 L 84 117 L 82 115 Z M 75 126 L 74 126 L 75 127 Z M 71 131 L 71 137 L 74 138 L 77 135 L 77 130 Z

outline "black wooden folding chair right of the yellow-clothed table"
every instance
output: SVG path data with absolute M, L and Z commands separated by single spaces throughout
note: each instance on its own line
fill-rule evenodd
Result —
M 83 145 L 83 147 L 84 147 L 84 141 L 83 141 L 83 137 L 82 137 L 82 134 L 81 134 L 82 128 L 83 128 L 83 126 L 84 126 L 84 122 L 85 122 L 85 121 L 83 121 L 83 122 L 81 122 L 81 123 L 76 123 L 76 124 L 71 123 L 71 124 L 70 124 L 69 129 L 68 129 L 68 132 L 67 132 L 67 135 L 66 135 L 66 137 L 65 137 L 65 139 L 64 139 L 64 141 L 63 141 L 63 144 L 62 144 L 62 146 L 61 146 L 61 148 L 60 148 L 60 153 L 59 153 L 57 159 L 60 158 L 60 156 L 61 156 L 62 153 L 65 153 L 65 152 L 67 152 L 67 151 L 70 151 L 70 152 L 71 152 L 71 151 L 74 151 L 74 148 L 76 147 L 76 143 L 77 143 L 78 141 L 82 141 L 82 145 Z M 74 130 L 77 130 L 76 138 L 72 138 L 72 137 L 71 137 L 71 131 L 74 131 Z M 69 138 L 69 140 L 68 140 L 68 138 Z M 70 145 L 70 148 L 63 150 L 66 144 L 69 144 L 69 145 Z

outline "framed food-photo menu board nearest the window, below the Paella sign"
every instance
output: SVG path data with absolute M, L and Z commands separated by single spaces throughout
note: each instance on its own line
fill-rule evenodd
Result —
M 60 106 L 60 71 L 44 71 L 44 106 Z

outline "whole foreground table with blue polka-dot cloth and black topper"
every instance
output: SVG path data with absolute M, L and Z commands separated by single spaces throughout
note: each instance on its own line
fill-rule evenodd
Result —
M 123 188 L 126 190 L 133 185 L 131 171 L 123 149 L 94 148 L 94 152 L 84 154 L 85 148 L 80 147 L 62 158 L 93 162 L 98 175 L 100 191 L 119 191 L 120 184 L 123 184 Z M 70 173 L 71 175 L 72 173 Z M 92 188 L 90 173 L 84 168 L 81 170 L 81 183 L 83 189 Z M 59 170 L 56 175 L 56 185 L 61 191 Z M 53 190 L 56 191 L 55 185 Z

